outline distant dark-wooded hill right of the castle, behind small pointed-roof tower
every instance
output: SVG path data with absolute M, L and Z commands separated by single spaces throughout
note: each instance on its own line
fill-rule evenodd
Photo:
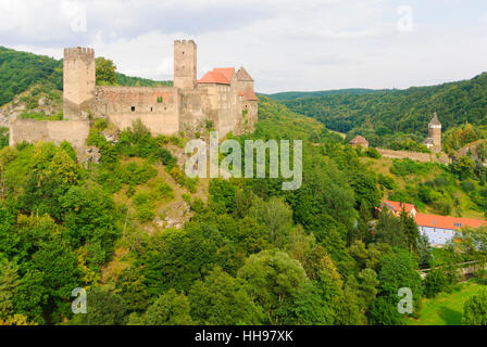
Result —
M 486 73 L 470 80 L 407 90 L 349 89 L 269 97 L 340 132 L 362 129 L 424 137 L 434 112 L 444 129 L 465 123 L 487 125 Z

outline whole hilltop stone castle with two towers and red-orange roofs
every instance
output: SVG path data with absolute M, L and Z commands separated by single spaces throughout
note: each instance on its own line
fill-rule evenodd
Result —
M 101 87 L 96 85 L 93 49 L 64 49 L 64 120 L 16 119 L 10 125 L 10 144 L 67 140 L 79 151 L 96 118 L 121 130 L 140 119 L 152 134 L 191 136 L 209 127 L 221 138 L 252 131 L 258 99 L 249 73 L 214 68 L 198 80 L 197 63 L 195 41 L 175 40 L 174 87 Z

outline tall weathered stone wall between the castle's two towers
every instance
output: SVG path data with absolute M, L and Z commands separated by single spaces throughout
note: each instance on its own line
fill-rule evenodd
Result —
M 140 119 L 152 134 L 179 131 L 179 90 L 174 87 L 97 87 L 97 117 L 107 117 L 120 129 Z

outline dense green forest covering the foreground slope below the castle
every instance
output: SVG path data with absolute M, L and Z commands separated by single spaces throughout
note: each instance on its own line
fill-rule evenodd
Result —
M 405 324 L 423 297 L 461 280 L 454 264 L 486 260 L 475 247 L 485 230 L 437 254 L 405 214 L 380 214 L 371 233 L 387 182 L 363 154 L 265 97 L 259 119 L 234 139 L 303 140 L 298 191 L 282 178 L 212 179 L 201 196 L 204 182 L 185 178 L 172 153 L 185 140 L 140 123 L 113 143 L 97 121 L 88 142 L 102 156 L 88 167 L 67 142 L 0 150 L 0 323 Z M 188 222 L 148 232 L 155 204 L 179 190 Z M 433 265 L 422 281 L 417 270 Z M 87 288 L 87 314 L 71 310 L 76 287 Z M 398 313 L 400 287 L 413 292 L 412 314 Z

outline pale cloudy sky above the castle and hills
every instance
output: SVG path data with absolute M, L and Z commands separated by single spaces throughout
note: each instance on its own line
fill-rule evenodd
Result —
M 240 67 L 258 92 L 409 88 L 487 70 L 486 0 L 0 0 L 0 46 L 61 59 L 90 47 L 117 70 L 173 78 Z

